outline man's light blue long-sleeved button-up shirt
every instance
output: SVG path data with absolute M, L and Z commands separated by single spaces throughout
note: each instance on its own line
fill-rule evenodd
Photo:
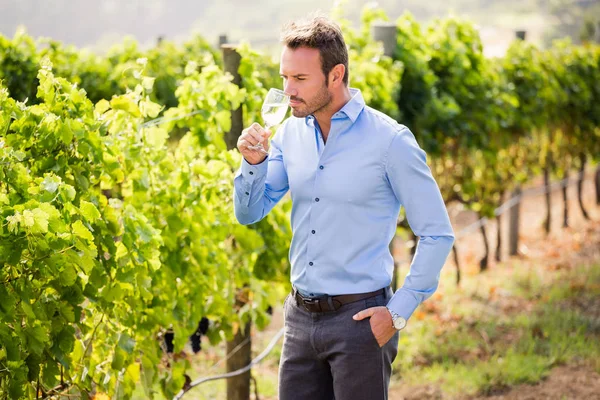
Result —
M 404 285 L 387 306 L 408 319 L 437 289 L 454 232 L 412 132 L 366 106 L 359 90 L 350 92 L 326 143 L 314 116 L 290 117 L 265 161 L 242 159 L 235 215 L 242 224 L 260 221 L 289 190 L 291 282 L 305 295 L 337 295 L 390 285 L 389 243 L 404 206 L 420 240 Z

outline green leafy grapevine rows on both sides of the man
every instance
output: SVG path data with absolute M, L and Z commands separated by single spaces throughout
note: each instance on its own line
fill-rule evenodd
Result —
M 534 179 L 581 182 L 600 162 L 597 44 L 515 40 L 488 59 L 468 21 L 405 14 L 388 57 L 371 34 L 383 11 L 366 8 L 357 29 L 334 18 L 350 86 L 415 133 L 446 204 L 499 218 Z M 189 384 L 190 336 L 202 357 L 270 323 L 290 289 L 291 204 L 237 223 L 241 156 L 227 138 L 236 112 L 261 122 L 281 78 L 276 60 L 236 52 L 239 82 L 200 37 L 97 55 L 0 36 L 0 398 L 120 399 L 138 386 L 173 398 Z M 403 215 L 398 235 L 410 235 Z

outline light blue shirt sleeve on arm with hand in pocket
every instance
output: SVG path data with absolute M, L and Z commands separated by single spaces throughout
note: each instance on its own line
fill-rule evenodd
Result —
M 404 285 L 388 307 L 409 319 L 437 289 L 440 271 L 454 243 L 454 231 L 439 187 L 412 132 L 404 127 L 392 140 L 385 160 L 387 179 L 404 206 L 419 242 Z

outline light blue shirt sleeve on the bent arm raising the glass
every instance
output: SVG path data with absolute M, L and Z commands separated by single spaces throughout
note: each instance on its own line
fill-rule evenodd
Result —
M 283 164 L 282 136 L 283 126 L 271 140 L 269 156 L 260 164 L 251 165 L 242 157 L 233 181 L 233 205 L 235 216 L 243 225 L 263 219 L 289 189 Z

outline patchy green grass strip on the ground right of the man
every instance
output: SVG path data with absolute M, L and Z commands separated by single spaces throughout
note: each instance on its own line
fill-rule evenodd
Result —
M 574 361 L 600 372 L 600 265 L 516 271 L 489 271 L 424 303 L 400 339 L 401 384 L 435 384 L 454 397 L 536 383 Z

